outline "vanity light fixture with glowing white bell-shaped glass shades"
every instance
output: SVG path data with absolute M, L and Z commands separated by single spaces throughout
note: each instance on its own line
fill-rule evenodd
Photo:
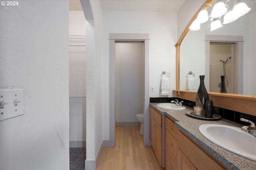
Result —
M 210 15 L 208 14 L 208 11 L 206 7 L 211 6 L 211 4 L 205 4 L 204 9 L 202 9 L 196 18 L 190 25 L 189 29 L 192 31 L 197 31 L 200 29 L 200 24 L 205 23 L 209 20 L 211 21 L 211 30 L 213 31 L 215 29 L 218 29 L 222 27 L 222 23 L 220 22 L 219 18 L 224 15 L 223 18 L 223 24 L 230 23 L 232 21 L 237 20 L 239 17 L 244 16 L 244 14 L 247 14 L 250 11 L 250 8 L 244 3 L 240 2 L 240 0 L 236 0 L 234 3 L 233 9 L 229 8 L 228 5 L 219 0 L 214 7 L 212 8 Z

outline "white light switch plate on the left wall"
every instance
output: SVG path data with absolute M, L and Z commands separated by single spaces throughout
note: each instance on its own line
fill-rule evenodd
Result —
M 24 89 L 1 89 L 0 121 L 24 115 Z

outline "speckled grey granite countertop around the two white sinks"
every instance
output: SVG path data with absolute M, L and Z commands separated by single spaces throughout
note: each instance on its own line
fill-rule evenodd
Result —
M 175 121 L 175 125 L 186 135 L 188 135 L 195 143 L 203 147 L 207 150 L 214 158 L 222 162 L 222 164 L 226 165 L 231 170 L 255 170 L 256 162 L 234 154 L 228 150 L 222 149 L 221 147 L 215 145 L 214 143 L 208 141 L 203 135 L 201 135 L 199 131 L 199 126 L 203 124 L 221 124 L 228 125 L 234 127 L 242 127 L 242 125 L 226 120 L 219 119 L 215 121 L 203 120 L 203 119 L 195 119 L 193 117 L 189 117 L 185 115 L 186 112 L 192 112 L 193 109 L 191 107 L 186 106 L 184 110 L 170 110 L 164 109 L 157 106 L 158 103 L 150 103 L 156 111 L 159 113 L 166 115 L 173 121 Z M 246 143 L 245 143 L 246 145 Z

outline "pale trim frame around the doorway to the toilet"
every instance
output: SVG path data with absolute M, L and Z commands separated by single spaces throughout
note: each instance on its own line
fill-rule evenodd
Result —
M 115 43 L 116 41 L 144 41 L 144 146 L 150 146 L 149 113 L 149 34 L 148 33 L 110 33 L 110 141 L 108 147 L 115 147 Z

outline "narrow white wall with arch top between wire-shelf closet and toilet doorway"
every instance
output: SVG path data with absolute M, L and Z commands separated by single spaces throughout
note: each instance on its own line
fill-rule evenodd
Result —
M 102 149 L 102 9 L 98 0 L 80 1 L 86 18 L 86 161 L 96 169 Z M 105 120 L 104 120 L 105 121 Z

